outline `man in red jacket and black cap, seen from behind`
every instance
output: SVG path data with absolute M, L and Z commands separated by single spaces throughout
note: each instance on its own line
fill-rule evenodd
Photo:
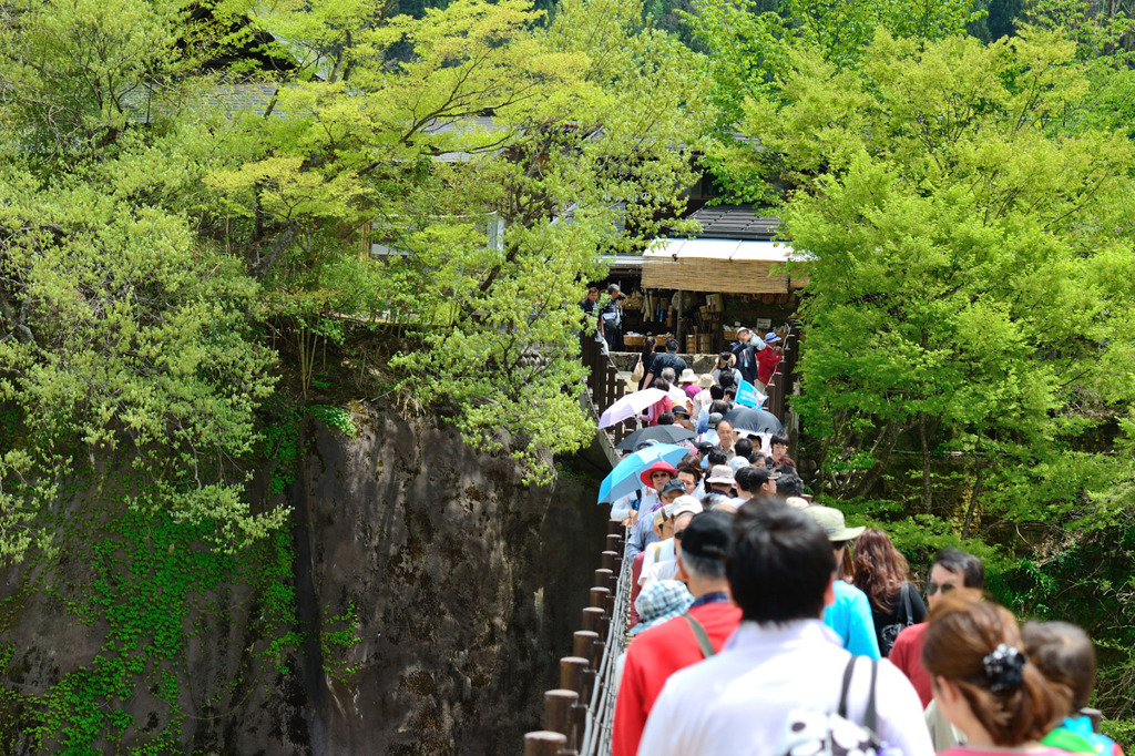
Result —
M 634 756 L 650 707 L 666 678 L 697 664 L 706 652 L 721 650 L 740 624 L 741 610 L 730 600 L 725 578 L 732 516 L 721 511 L 701 512 L 690 519 L 684 530 L 674 534 L 676 577 L 689 587 L 693 604 L 686 614 L 644 631 L 627 649 L 615 700 L 612 756 Z M 695 622 L 712 649 L 703 648 Z

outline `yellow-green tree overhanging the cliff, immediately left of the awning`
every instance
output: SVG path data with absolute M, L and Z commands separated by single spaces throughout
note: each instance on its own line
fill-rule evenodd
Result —
M 591 432 L 568 305 L 600 250 L 679 209 L 697 61 L 634 3 L 564 3 L 547 28 L 519 1 L 378 25 L 372 11 L 304 3 L 263 22 L 321 76 L 280 86 L 285 115 L 245 121 L 239 162 L 210 174 L 227 238 L 299 331 L 333 313 L 410 324 L 421 347 L 395 361 L 404 385 L 544 477 L 540 450 Z M 395 45 L 413 54 L 394 60 Z M 405 257 L 360 257 L 360 226 Z

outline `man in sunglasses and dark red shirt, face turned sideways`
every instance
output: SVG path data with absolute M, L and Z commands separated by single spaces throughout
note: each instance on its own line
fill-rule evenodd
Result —
M 931 616 L 934 614 L 934 606 L 947 594 L 980 600 L 984 587 L 985 566 L 980 558 L 957 548 L 943 548 L 934 556 L 930 568 L 930 582 L 926 583 L 926 603 L 930 604 Z M 930 672 L 922 663 L 922 648 L 928 627 L 928 623 L 919 622 L 905 629 L 894 639 L 891 654 L 886 657 L 907 675 L 924 707 L 930 706 L 934 698 Z

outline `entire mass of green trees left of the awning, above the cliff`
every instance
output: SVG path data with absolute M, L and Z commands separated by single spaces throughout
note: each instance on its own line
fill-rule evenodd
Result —
M 241 495 L 275 383 L 258 325 L 306 394 L 348 325 L 402 324 L 403 392 L 546 478 L 546 451 L 592 432 L 579 283 L 690 183 L 699 62 L 639 5 L 565 3 L 550 25 L 520 0 L 210 10 L 0 16 L 7 556 L 50 532 L 59 471 L 111 452 L 160 484 L 140 505 L 228 521 L 225 543 L 278 521 Z

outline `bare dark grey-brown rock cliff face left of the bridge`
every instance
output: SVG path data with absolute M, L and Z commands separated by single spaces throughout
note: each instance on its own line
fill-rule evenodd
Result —
M 519 754 L 522 733 L 538 729 L 541 694 L 556 687 L 598 566 L 606 511 L 595 485 L 526 487 L 511 460 L 478 454 L 436 422 L 369 409 L 355 421 L 353 438 L 309 421 L 285 492 L 289 663 L 250 662 L 268 640 L 258 637 L 263 597 L 217 586 L 211 595 L 228 610 L 191 618 L 196 630 L 169 663 L 187 716 L 165 753 Z M 36 695 L 106 642 L 99 622 L 67 619 L 67 594 L 92 577 L 62 573 L 66 563 L 0 574 L 0 716 L 24 728 L 42 721 Z M 58 598 L 41 590 L 60 582 Z M 116 698 L 138 724 L 75 753 L 144 744 L 146 726 L 166 724 L 151 692 Z M 26 732 L 0 736 L 9 753 L 31 753 Z

